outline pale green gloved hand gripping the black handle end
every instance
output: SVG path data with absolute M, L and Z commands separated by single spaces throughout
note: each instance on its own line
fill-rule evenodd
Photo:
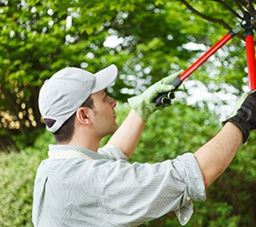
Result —
M 165 106 L 171 104 L 171 99 L 174 98 L 174 94 L 170 93 L 170 96 L 165 100 L 165 104 L 159 105 L 156 107 L 154 104 L 154 99 L 161 93 L 166 93 L 175 89 L 175 87 L 171 84 L 183 71 L 171 74 L 167 77 L 164 77 L 162 80 L 154 83 L 148 89 L 146 89 L 141 95 L 134 96 L 132 98 L 128 98 L 128 103 L 130 107 L 132 107 L 141 118 L 146 122 L 155 110 L 163 109 Z M 182 87 L 182 86 L 180 86 Z

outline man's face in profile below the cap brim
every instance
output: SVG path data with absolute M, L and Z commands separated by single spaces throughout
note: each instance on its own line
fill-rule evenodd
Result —
M 107 95 L 106 90 L 101 90 L 92 95 L 93 108 L 93 123 L 95 132 L 100 137 L 105 137 L 117 129 L 116 115 L 114 108 L 116 101 Z

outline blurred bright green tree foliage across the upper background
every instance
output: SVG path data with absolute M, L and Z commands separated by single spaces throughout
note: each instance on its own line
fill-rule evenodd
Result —
M 188 67 L 226 30 L 202 19 L 184 2 L 230 26 L 238 22 L 222 1 L 1 0 L 0 149 L 17 150 L 33 143 L 43 128 L 39 87 L 61 68 L 96 72 L 115 63 L 120 73 L 111 91 L 125 101 L 150 83 Z M 239 10 L 232 1 L 227 3 Z M 115 44 L 107 44 L 109 39 Z M 194 79 L 216 83 L 209 88 L 212 93 L 224 82 L 241 90 L 247 83 L 245 62 L 244 43 L 234 38 L 197 70 Z

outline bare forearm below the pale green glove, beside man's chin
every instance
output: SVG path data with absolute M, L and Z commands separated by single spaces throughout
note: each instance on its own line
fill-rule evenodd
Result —
M 145 124 L 140 115 L 132 109 L 108 144 L 120 148 L 129 159 L 135 151 Z

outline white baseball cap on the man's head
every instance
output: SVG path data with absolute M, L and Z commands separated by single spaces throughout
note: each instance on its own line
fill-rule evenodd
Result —
M 46 80 L 39 91 L 39 111 L 44 119 L 56 122 L 46 129 L 57 130 L 70 118 L 87 98 L 112 84 L 117 76 L 117 67 L 110 65 L 92 74 L 84 69 L 70 67 L 55 73 Z

